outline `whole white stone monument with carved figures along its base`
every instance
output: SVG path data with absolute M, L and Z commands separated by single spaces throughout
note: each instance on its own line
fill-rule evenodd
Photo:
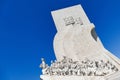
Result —
M 104 48 L 81 5 L 51 13 L 57 60 L 48 66 L 42 59 L 42 80 L 120 80 L 120 60 Z

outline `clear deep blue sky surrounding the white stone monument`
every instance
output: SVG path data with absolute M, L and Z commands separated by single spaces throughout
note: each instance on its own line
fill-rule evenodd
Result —
M 39 80 L 54 60 L 52 10 L 81 4 L 104 46 L 120 58 L 119 0 L 0 0 L 0 80 Z

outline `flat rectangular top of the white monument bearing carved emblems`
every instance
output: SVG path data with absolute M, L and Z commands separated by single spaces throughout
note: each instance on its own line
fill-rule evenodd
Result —
M 54 19 L 57 31 L 61 31 L 65 26 L 71 24 L 90 24 L 88 17 L 86 16 L 81 5 L 75 5 L 72 7 L 59 9 L 52 11 L 52 17 Z

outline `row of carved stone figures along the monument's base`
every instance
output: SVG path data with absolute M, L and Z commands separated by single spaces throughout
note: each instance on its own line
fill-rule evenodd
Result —
M 40 65 L 43 75 L 76 75 L 76 76 L 104 76 L 109 73 L 118 71 L 118 68 L 110 61 L 89 60 L 73 61 L 70 58 L 64 57 L 61 61 L 51 61 L 48 66 L 42 58 Z

